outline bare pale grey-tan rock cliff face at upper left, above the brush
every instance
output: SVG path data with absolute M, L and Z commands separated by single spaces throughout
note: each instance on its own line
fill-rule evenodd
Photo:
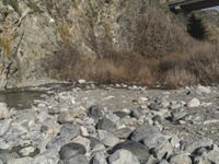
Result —
M 21 86 L 45 78 L 41 62 L 59 48 L 60 42 L 76 45 L 91 59 L 104 49 L 134 49 L 137 26 L 148 3 L 148 0 L 1 2 L 0 54 L 9 56 L 1 59 L 1 65 L 12 63 L 1 74 L 1 84 Z

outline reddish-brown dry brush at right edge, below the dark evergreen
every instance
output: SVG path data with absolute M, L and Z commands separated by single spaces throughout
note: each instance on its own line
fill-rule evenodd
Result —
M 160 65 L 161 80 L 171 87 L 219 82 L 219 47 L 196 43 L 187 55 L 166 56 Z

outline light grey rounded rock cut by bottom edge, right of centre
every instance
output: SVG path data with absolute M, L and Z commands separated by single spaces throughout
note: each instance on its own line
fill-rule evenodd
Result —
M 171 164 L 192 164 L 192 160 L 185 152 L 178 152 L 170 157 Z

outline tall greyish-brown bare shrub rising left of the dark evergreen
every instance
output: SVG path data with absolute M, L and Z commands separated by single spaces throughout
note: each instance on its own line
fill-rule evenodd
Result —
M 163 57 L 184 51 L 193 40 L 172 15 L 158 7 L 148 8 L 145 20 L 137 26 L 135 50 L 146 57 Z

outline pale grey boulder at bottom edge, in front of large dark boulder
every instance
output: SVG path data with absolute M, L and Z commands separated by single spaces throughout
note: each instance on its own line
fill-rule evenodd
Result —
M 117 150 L 108 157 L 110 164 L 140 164 L 138 159 L 127 150 Z

